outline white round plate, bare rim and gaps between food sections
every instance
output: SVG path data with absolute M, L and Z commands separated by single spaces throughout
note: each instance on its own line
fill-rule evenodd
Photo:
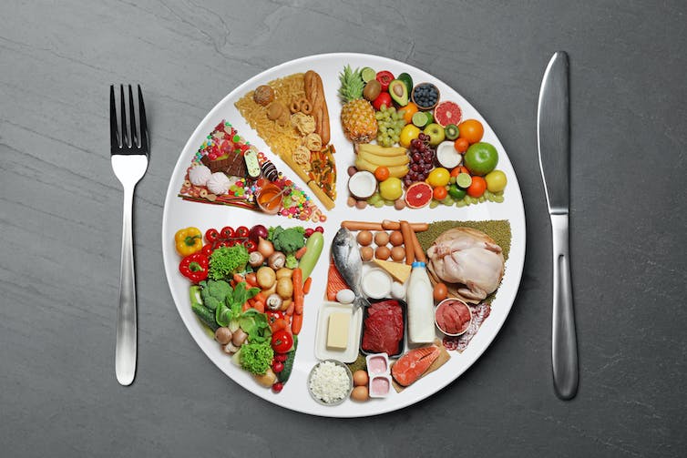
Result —
M 344 132 L 339 122 L 341 103 L 337 97 L 339 88 L 338 75 L 346 64 L 353 67 L 370 66 L 376 70 L 385 69 L 391 71 L 394 75 L 407 72 L 413 76 L 415 83 L 423 81 L 434 83 L 441 92 L 442 100 L 453 100 L 462 108 L 464 119 L 476 118 L 480 120 L 485 127 L 484 141 L 493 144 L 498 150 L 499 161 L 497 168 L 503 170 L 508 177 L 508 187 L 504 193 L 505 201 L 503 203 L 485 202 L 464 208 L 439 206 L 436 209 L 405 209 L 403 211 L 397 211 L 392 207 L 385 207 L 383 209 L 368 207 L 364 210 L 347 207 L 346 168 L 353 164 L 354 152 L 351 143 L 344 137 Z M 205 137 L 222 119 L 231 122 L 231 125 L 236 127 L 241 137 L 260 148 L 261 151 L 272 158 L 272 161 L 279 170 L 282 170 L 284 174 L 308 191 L 304 183 L 276 155 L 272 154 L 270 148 L 248 126 L 239 111 L 234 107 L 234 102 L 255 87 L 266 84 L 275 78 L 305 72 L 309 69 L 318 72 L 323 79 L 332 131 L 331 143 L 333 143 L 337 151 L 335 157 L 338 170 L 338 197 L 336 199 L 336 207 L 332 211 L 326 212 L 327 220 L 322 224 L 324 227 L 325 249 L 313 272 L 313 275 L 319 276 L 319 278 L 313 279 L 313 288 L 305 299 L 303 327 L 299 335 L 299 346 L 298 351 L 296 351 L 292 376 L 289 382 L 284 385 L 283 391 L 275 394 L 270 389 L 259 386 L 251 379 L 247 372 L 241 371 L 240 368 L 233 365 L 230 358 L 220 351 L 220 345 L 209 337 L 200 325 L 200 322 L 196 320 L 190 310 L 190 282 L 179 273 L 179 255 L 174 250 L 173 240 L 174 233 L 178 229 L 189 226 L 195 226 L 205 231 L 209 228 L 221 229 L 228 225 L 233 227 L 240 225 L 251 227 L 253 224 L 260 223 L 265 226 L 281 224 L 286 227 L 300 223 L 280 216 L 266 216 L 247 209 L 185 201 L 178 197 L 178 193 L 191 158 L 200 148 Z M 320 208 L 323 209 L 323 206 L 320 205 Z M 444 219 L 508 219 L 512 231 L 512 241 L 510 255 L 506 263 L 506 273 L 497 292 L 497 298 L 491 304 L 491 314 L 482 324 L 477 335 L 470 341 L 466 351 L 463 351 L 463 353 L 450 351 L 451 359 L 444 366 L 437 371 L 427 374 L 403 392 L 396 393 L 392 391 L 385 399 L 373 399 L 368 402 L 353 402 L 349 399 L 341 405 L 327 407 L 315 402 L 308 394 L 306 379 L 309 371 L 317 362 L 314 356 L 315 328 L 318 308 L 323 303 L 324 298 L 329 246 L 333 235 L 339 229 L 339 224 L 343 219 L 357 219 L 361 221 L 407 219 L 409 221 L 427 222 Z M 315 224 L 310 222 L 304 225 L 307 227 L 315 226 Z M 200 349 L 234 382 L 269 402 L 294 411 L 328 417 L 362 417 L 395 411 L 422 401 L 427 396 L 438 392 L 450 382 L 456 380 L 487 349 L 489 343 L 496 337 L 501 325 L 506 321 L 520 284 L 525 261 L 525 212 L 518 179 L 508 159 L 508 155 L 498 141 L 496 134 L 489 127 L 487 121 L 479 115 L 477 110 L 451 87 L 446 86 L 445 83 L 436 79 L 436 77 L 420 69 L 384 57 L 361 54 L 308 56 L 286 62 L 266 70 L 260 75 L 253 76 L 240 87 L 231 91 L 227 97 L 224 97 L 217 106 L 210 110 L 210 113 L 200 122 L 199 126 L 196 127 L 196 130 L 190 136 L 189 141 L 181 152 L 177 166 L 174 168 L 174 173 L 169 180 L 162 220 L 162 253 L 165 272 L 169 281 L 169 290 L 177 305 L 181 319 L 184 321 L 193 339 L 200 346 Z M 459 385 L 455 389 L 460 389 Z

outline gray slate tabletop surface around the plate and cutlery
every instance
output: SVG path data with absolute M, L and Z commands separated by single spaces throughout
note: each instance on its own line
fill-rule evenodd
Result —
M 3 2 L 3 456 L 685 456 L 687 5 L 682 1 Z M 550 376 L 540 78 L 571 62 L 571 248 L 580 388 Z M 163 274 L 171 170 L 233 87 L 299 56 L 367 52 L 426 69 L 487 118 L 518 173 L 528 254 L 497 340 L 446 390 L 329 420 L 239 388 L 184 328 Z M 121 190 L 108 85 L 145 89 L 137 381 L 114 376 Z

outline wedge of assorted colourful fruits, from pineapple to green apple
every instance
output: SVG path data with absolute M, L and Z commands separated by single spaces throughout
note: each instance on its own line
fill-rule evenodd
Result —
M 481 141 L 484 127 L 477 119 L 463 120 L 458 104 L 441 100 L 435 85 L 414 86 L 407 73 L 395 77 L 351 66 L 344 67 L 340 81 L 342 127 L 356 152 L 349 206 L 415 209 L 503 201 L 507 178 L 496 169 L 496 148 Z

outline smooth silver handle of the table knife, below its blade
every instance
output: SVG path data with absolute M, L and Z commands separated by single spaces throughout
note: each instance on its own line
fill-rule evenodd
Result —
M 569 400 L 578 391 L 578 342 L 570 281 L 568 214 L 551 215 L 553 239 L 553 383 L 560 399 Z

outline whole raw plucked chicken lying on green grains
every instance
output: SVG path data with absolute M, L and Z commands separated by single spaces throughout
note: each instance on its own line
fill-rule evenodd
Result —
M 477 229 L 448 229 L 427 249 L 428 270 L 459 299 L 478 303 L 497 290 L 504 271 L 501 247 Z

